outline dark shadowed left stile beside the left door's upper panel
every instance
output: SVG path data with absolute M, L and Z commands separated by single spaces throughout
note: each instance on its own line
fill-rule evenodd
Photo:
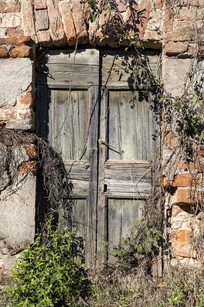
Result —
M 47 87 L 37 85 L 36 134 L 47 138 Z

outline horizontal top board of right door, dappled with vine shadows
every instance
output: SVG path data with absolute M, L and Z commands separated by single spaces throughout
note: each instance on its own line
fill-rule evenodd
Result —
M 132 53 L 128 51 L 101 51 L 103 58 L 102 85 L 108 89 L 132 89 L 134 83 L 134 68 L 132 67 Z M 158 78 L 158 52 L 149 52 L 143 55 L 143 64 L 149 69 L 152 76 Z M 147 76 L 145 70 L 140 70 L 136 85 L 145 86 Z M 151 84 L 156 84 L 151 78 Z

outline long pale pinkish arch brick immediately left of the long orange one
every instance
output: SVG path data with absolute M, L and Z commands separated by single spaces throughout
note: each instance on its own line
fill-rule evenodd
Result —
M 56 46 L 66 44 L 66 36 L 63 29 L 62 18 L 59 12 L 57 0 L 47 0 L 47 11 L 49 16 L 50 35 Z

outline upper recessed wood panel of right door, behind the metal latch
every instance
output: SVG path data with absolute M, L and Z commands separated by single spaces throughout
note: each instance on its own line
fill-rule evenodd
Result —
M 149 102 L 137 92 L 109 92 L 110 160 L 147 160 L 149 153 Z

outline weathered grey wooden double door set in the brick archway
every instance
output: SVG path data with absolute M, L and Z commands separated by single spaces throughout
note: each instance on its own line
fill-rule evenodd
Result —
M 156 75 L 157 53 L 144 58 Z M 98 263 L 106 257 L 99 243 L 112 250 L 130 235 L 151 189 L 154 97 L 142 72 L 133 92 L 129 52 L 49 51 L 39 65 L 37 133 L 62 153 L 73 183 L 72 229 L 95 266 L 96 254 Z

